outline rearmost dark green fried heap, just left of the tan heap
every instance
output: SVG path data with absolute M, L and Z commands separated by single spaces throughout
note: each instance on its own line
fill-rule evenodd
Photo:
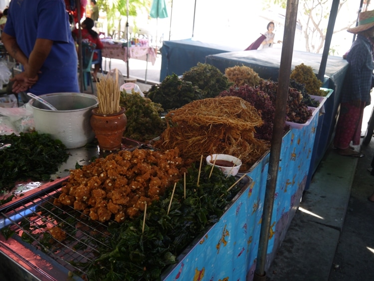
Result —
M 198 87 L 202 98 L 216 97 L 233 84 L 217 67 L 201 62 L 183 73 L 182 80 Z

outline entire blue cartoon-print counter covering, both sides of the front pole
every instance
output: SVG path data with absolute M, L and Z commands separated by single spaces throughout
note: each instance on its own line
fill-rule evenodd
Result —
M 267 266 L 284 239 L 299 206 L 309 172 L 318 114 L 307 126 L 282 138 L 280 164 L 269 235 Z M 270 154 L 247 175 L 250 187 L 237 196 L 222 218 L 178 258 L 163 280 L 252 280 L 256 266 Z

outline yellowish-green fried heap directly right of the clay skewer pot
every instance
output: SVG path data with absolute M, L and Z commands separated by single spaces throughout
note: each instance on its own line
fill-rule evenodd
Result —
M 139 94 L 121 93 L 120 105 L 126 108 L 127 124 L 125 137 L 141 142 L 152 140 L 166 129 L 165 119 L 160 117 L 160 104 L 143 98 Z

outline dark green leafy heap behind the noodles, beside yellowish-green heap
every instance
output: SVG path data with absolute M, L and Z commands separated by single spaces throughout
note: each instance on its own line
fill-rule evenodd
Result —
M 178 78 L 175 73 L 167 76 L 160 84 L 153 85 L 144 94 L 153 102 L 160 103 L 164 110 L 180 108 L 193 100 L 202 98 L 198 87 Z

